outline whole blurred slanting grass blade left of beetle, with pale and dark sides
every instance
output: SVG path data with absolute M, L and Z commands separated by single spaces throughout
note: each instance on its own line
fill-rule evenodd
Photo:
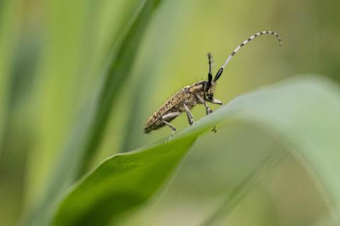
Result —
M 88 168 L 106 129 L 106 121 L 115 100 L 128 79 L 137 49 L 142 41 L 141 37 L 161 2 L 142 1 L 140 10 L 137 11 L 136 16 L 132 16 L 132 22 L 128 23 L 126 32 L 122 34 L 121 42 L 113 47 L 98 96 L 81 111 L 81 117 L 74 126 L 69 143 L 62 150 L 55 172 L 50 178 L 44 201 L 31 214 L 31 218 L 25 220 L 30 225 L 47 225 L 50 220 L 49 214 L 60 192 L 79 179 Z

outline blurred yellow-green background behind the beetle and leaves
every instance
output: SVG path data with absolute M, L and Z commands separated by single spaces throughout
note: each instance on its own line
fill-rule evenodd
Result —
M 77 120 L 98 93 L 111 49 L 143 1 L 0 1 L 0 225 L 15 225 L 45 197 L 49 178 Z M 300 73 L 340 82 L 340 1 L 162 1 L 113 102 L 89 168 L 169 135 L 144 134 L 146 119 L 184 85 L 205 80 L 250 35 L 274 30 L 232 59 L 215 97 L 241 93 Z M 217 109 L 213 107 L 212 109 Z M 205 115 L 193 109 L 196 119 Z M 185 116 L 174 126 L 188 126 Z M 165 191 L 126 225 L 197 225 L 219 197 L 258 162 L 273 138 L 249 124 L 200 138 Z M 234 130 L 246 142 L 225 137 Z M 226 143 L 235 150 L 221 151 Z M 223 149 L 222 149 L 223 150 Z M 72 156 L 70 156 L 72 157 Z M 204 180 L 203 180 L 204 179 Z M 329 209 L 317 183 L 294 157 L 280 162 L 224 225 L 324 225 Z

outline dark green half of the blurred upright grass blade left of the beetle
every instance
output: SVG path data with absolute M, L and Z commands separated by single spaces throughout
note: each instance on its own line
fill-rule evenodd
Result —
M 154 11 L 159 6 L 159 0 L 146 1 L 138 16 L 132 23 L 131 28 L 124 37 L 124 41 L 115 54 L 114 59 L 106 72 L 106 78 L 101 88 L 101 93 L 98 97 L 98 105 L 94 115 L 94 122 L 89 129 L 89 139 L 84 147 L 84 160 L 81 162 L 79 176 L 86 172 L 89 167 L 89 161 L 92 159 L 98 144 L 103 136 L 103 131 L 106 129 L 108 118 L 112 107 L 119 97 L 120 90 L 128 80 L 129 73 L 137 55 L 137 49 L 141 43 L 141 37 L 145 32 L 149 21 L 152 18 Z

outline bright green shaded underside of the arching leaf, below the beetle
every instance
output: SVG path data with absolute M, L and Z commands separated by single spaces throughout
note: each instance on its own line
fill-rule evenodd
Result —
M 176 139 L 105 160 L 74 186 L 55 225 L 106 225 L 111 218 L 147 201 L 179 164 L 195 138 Z

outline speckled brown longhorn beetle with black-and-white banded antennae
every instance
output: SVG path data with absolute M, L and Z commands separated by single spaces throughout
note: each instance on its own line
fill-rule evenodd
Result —
M 233 52 L 229 55 L 225 64 L 222 65 L 220 70 L 217 71 L 215 78 L 212 80 L 212 55 L 208 54 L 208 62 L 209 62 L 209 72 L 208 72 L 208 81 L 199 81 L 198 83 L 193 83 L 193 85 L 188 85 L 177 93 L 175 93 L 172 97 L 167 100 L 162 107 L 160 107 L 154 114 L 152 114 L 149 119 L 147 119 L 147 123 L 145 124 L 144 131 L 145 133 L 149 133 L 152 130 L 159 129 L 163 126 L 169 126 L 172 129 L 171 136 L 169 139 L 174 136 L 176 128 L 172 126 L 169 122 L 178 117 L 181 113 L 186 112 L 188 117 L 189 124 L 193 124 L 193 114 L 191 114 L 190 109 L 195 105 L 201 104 L 205 106 L 206 114 L 212 113 L 212 110 L 207 105 L 207 102 L 217 105 L 223 105 L 220 100 L 214 98 L 216 82 L 218 78 L 222 75 L 223 69 L 229 63 L 230 59 L 234 57 L 239 49 L 241 49 L 246 43 L 253 40 L 255 37 L 258 37 L 263 34 L 275 35 L 278 38 L 278 42 L 282 45 L 282 40 L 280 36 L 273 31 L 266 30 L 262 32 L 258 32 L 255 35 L 252 35 L 247 40 L 242 42 Z M 212 131 L 216 132 L 215 127 L 212 128 Z

